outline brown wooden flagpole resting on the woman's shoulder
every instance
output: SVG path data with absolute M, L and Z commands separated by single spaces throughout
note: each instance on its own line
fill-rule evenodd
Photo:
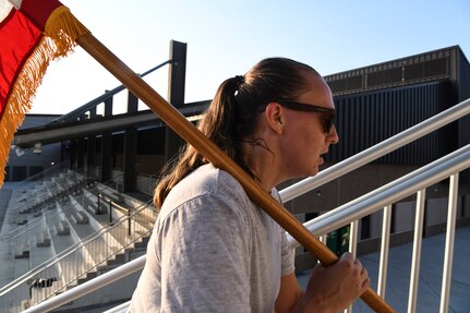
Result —
M 338 257 L 321 243 L 300 221 L 221 152 L 197 128 L 188 121 L 177 109 L 167 103 L 144 80 L 125 65 L 92 34 L 81 35 L 75 40 L 85 51 L 113 74 L 132 94 L 143 100 L 161 120 L 189 144 L 194 146 L 215 167 L 232 174 L 243 186 L 250 198 L 263 208 L 276 222 L 305 246 L 324 265 L 332 265 Z M 395 312 L 374 290 L 369 288 L 361 299 L 376 312 Z

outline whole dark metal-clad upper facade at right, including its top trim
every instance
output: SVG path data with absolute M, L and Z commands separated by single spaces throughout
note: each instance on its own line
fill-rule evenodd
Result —
M 470 64 L 458 46 L 325 77 L 337 108 L 339 161 L 470 97 Z M 467 117 L 378 162 L 423 165 L 470 143 Z

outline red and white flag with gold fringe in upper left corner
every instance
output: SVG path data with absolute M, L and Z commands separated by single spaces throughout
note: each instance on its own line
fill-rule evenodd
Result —
M 59 1 L 0 0 L 0 186 L 11 141 L 47 65 L 70 52 L 85 33 Z

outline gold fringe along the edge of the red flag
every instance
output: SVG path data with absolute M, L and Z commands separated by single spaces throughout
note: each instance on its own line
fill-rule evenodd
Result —
M 89 31 L 72 15 L 67 7 L 62 5 L 49 16 L 44 33 L 48 37 L 40 39 L 21 69 L 0 120 L 0 188 L 3 184 L 14 133 L 32 107 L 36 89 L 43 82 L 49 62 L 73 51 L 76 38 L 88 34 Z

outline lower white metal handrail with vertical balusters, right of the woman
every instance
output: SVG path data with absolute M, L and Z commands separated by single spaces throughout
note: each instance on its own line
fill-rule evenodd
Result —
M 414 227 L 414 241 L 413 241 L 413 253 L 411 264 L 411 277 L 410 277 L 410 291 L 408 297 L 408 312 L 417 312 L 417 299 L 418 299 L 418 278 L 420 269 L 420 257 L 421 257 L 421 244 L 422 244 L 422 229 L 424 218 L 424 200 L 425 200 L 425 188 L 442 181 L 445 178 L 450 179 L 449 186 L 449 203 L 448 203 L 448 217 L 447 217 L 447 233 L 446 233 L 446 245 L 445 245 L 445 261 L 443 269 L 443 288 L 441 292 L 441 311 L 447 312 L 448 299 L 450 290 L 450 278 L 451 278 L 451 264 L 454 255 L 454 238 L 455 238 L 455 224 L 456 224 L 456 212 L 457 212 L 457 190 L 458 190 L 458 173 L 465 169 L 470 168 L 470 145 L 459 149 L 457 156 L 454 158 L 447 158 L 447 161 L 436 165 L 437 168 L 430 168 L 426 171 L 412 172 L 408 176 L 412 182 L 407 182 L 401 179 L 394 181 L 384 186 L 382 192 L 371 192 L 360 198 L 360 201 L 352 201 L 345 204 L 328 213 L 328 216 L 317 217 L 305 226 L 309 230 L 315 234 L 321 236 L 327 233 L 336 228 L 346 226 L 351 222 L 351 228 L 361 217 L 367 216 L 382 209 L 383 203 L 388 203 L 385 209 L 390 209 L 390 205 L 408 195 L 418 193 L 417 197 L 417 215 L 415 215 L 415 227 Z M 418 172 L 418 173 L 417 173 Z M 421 181 L 421 182 L 420 182 Z M 383 232 L 383 243 L 381 251 L 381 263 L 378 270 L 378 292 L 382 297 L 385 296 L 386 285 L 386 270 L 388 261 L 388 242 L 389 242 L 389 213 L 384 212 L 385 229 Z M 351 231 L 351 242 L 357 243 L 357 232 Z M 299 244 L 289 238 L 292 242 L 292 248 Z M 351 249 L 351 248 L 350 248 Z

